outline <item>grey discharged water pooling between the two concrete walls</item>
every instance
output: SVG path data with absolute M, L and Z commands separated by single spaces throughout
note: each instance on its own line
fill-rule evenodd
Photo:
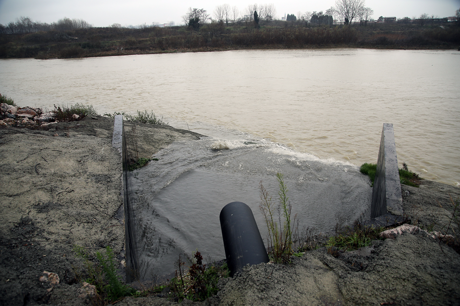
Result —
M 266 244 L 259 184 L 277 202 L 277 172 L 284 175 L 299 230 L 315 227 L 317 234 L 326 233 L 339 219 L 350 224 L 368 218 L 372 188 L 355 165 L 236 133 L 227 131 L 233 140 L 203 137 L 174 143 L 155 155 L 159 161 L 134 172 L 142 279 L 173 272 L 184 252 L 225 258 L 219 213 L 232 201 L 251 207 Z

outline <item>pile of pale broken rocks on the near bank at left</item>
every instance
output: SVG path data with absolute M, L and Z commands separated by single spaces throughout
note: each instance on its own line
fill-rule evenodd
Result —
M 78 119 L 80 116 L 74 114 Z M 6 103 L 0 104 L 0 125 L 1 126 L 40 126 L 47 127 L 50 124 L 59 122 L 56 120 L 56 113 L 52 111 L 43 112 L 40 107 L 19 107 Z

